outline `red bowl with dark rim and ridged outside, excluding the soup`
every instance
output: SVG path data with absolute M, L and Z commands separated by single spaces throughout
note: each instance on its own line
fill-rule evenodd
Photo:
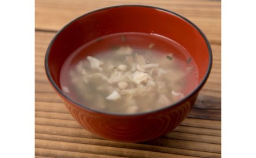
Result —
M 154 32 L 183 45 L 198 66 L 199 85 L 175 104 L 139 114 L 104 113 L 67 97 L 60 88 L 60 70 L 65 59 L 93 39 L 120 32 Z M 107 7 L 72 20 L 52 39 L 45 58 L 48 80 L 73 118 L 93 134 L 122 142 L 143 142 L 177 127 L 191 111 L 211 67 L 210 44 L 195 24 L 172 11 L 138 5 Z

